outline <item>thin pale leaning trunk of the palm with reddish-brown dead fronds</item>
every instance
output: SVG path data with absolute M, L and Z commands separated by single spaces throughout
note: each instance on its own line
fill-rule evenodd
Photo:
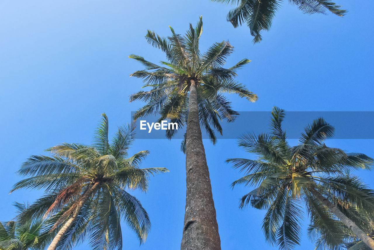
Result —
M 56 234 L 55 238 L 53 238 L 52 242 L 50 243 L 49 247 L 47 250 L 56 250 L 58 244 L 66 234 L 66 232 L 69 230 L 71 225 L 73 225 L 74 221 L 77 219 L 80 210 L 82 209 L 83 205 L 86 203 L 86 201 L 91 197 L 91 195 L 96 192 L 96 190 L 99 188 L 99 182 L 96 182 L 88 192 L 86 192 L 83 196 L 82 199 L 79 201 L 79 204 L 77 208 L 75 209 L 73 215 L 68 219 L 67 222 L 65 222 L 64 226 L 58 231 Z

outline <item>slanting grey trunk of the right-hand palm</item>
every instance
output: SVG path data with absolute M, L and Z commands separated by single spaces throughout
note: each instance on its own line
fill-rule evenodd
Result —
M 369 237 L 367 234 L 365 234 L 364 231 L 361 230 L 353 221 L 351 221 L 347 216 L 345 216 L 334 204 L 332 204 L 328 199 L 326 199 L 324 196 L 322 196 L 321 193 L 319 193 L 314 188 L 308 188 L 310 193 L 312 193 L 317 199 L 319 199 L 322 203 L 325 204 L 325 206 L 328 207 L 328 209 L 331 210 L 332 213 L 338 219 L 340 219 L 341 222 L 343 222 L 352 232 L 354 232 L 357 237 L 360 238 L 371 250 L 374 250 L 374 240 Z

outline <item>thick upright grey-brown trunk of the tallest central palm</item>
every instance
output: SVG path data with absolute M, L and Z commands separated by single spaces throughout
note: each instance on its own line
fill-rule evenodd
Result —
M 186 213 L 181 250 L 221 250 L 212 186 L 199 122 L 196 83 L 191 80 L 186 135 Z

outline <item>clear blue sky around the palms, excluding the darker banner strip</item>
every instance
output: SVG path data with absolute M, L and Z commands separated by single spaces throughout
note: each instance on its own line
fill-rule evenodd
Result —
M 202 15 L 202 51 L 216 41 L 230 40 L 235 52 L 228 65 L 251 59 L 239 71 L 239 79 L 259 100 L 248 103 L 231 96 L 236 110 L 270 111 L 277 105 L 289 111 L 374 111 L 374 2 L 336 1 L 349 10 L 344 18 L 303 15 L 284 1 L 271 31 L 264 32 L 263 42 L 256 45 L 248 28 L 234 29 L 226 22 L 230 6 L 209 0 L 1 1 L 0 221 L 15 215 L 13 201 L 32 202 L 42 194 L 22 190 L 8 195 L 21 179 L 15 172 L 28 156 L 59 143 L 90 143 L 102 112 L 109 117 L 111 134 L 130 122 L 131 111 L 142 103 L 128 101 L 141 87 L 141 81 L 129 74 L 141 66 L 128 55 L 164 60 L 162 52 L 144 40 L 147 29 L 166 36 L 171 25 L 183 33 Z M 230 189 L 240 174 L 224 160 L 251 156 L 238 149 L 235 140 L 219 140 L 216 146 L 204 143 L 222 249 L 275 249 L 265 243 L 261 231 L 264 212 L 237 208 L 239 197 L 249 189 Z M 328 144 L 374 156 L 373 140 Z M 170 170 L 151 179 L 147 194 L 133 192 L 153 225 L 142 250 L 180 248 L 186 188 L 179 145 L 180 140 L 142 139 L 132 149 L 151 151 L 143 167 Z M 374 188 L 372 172 L 358 174 Z M 138 249 L 135 235 L 125 225 L 122 228 L 123 249 Z M 303 232 L 297 249 L 313 249 Z

